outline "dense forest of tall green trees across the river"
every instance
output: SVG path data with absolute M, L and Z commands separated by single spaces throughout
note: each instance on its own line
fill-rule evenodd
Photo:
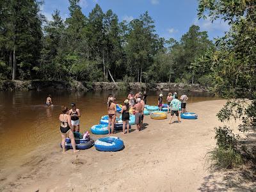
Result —
M 198 26 L 165 40 L 148 12 L 120 22 L 99 4 L 84 15 L 79 0 L 68 1 L 69 17 L 56 10 L 49 21 L 40 1 L 0 2 L 0 79 L 205 84 L 191 63 L 213 44 Z

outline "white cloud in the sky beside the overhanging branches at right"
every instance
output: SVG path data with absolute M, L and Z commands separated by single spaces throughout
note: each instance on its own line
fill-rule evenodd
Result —
M 209 17 L 206 19 L 200 19 L 198 20 L 197 18 L 193 21 L 193 24 L 196 26 L 199 26 L 202 31 L 228 31 L 230 26 L 228 25 L 227 22 L 217 19 L 214 20 L 213 22 Z

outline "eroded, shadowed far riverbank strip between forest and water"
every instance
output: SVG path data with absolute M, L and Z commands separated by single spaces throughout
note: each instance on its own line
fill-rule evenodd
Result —
M 85 81 L 0 81 L 0 91 L 12 90 L 70 90 L 70 91 L 102 91 L 102 90 L 149 90 L 172 91 L 186 90 L 191 92 L 207 92 L 200 84 L 183 83 L 108 83 Z

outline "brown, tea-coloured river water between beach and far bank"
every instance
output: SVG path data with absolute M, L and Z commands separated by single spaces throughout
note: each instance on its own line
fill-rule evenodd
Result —
M 0 166 L 18 161 L 41 145 L 60 147 L 61 105 L 70 107 L 76 102 L 81 111 L 80 131 L 99 124 L 107 114 L 106 100 L 113 93 L 116 102 L 123 104 L 128 92 L 0 92 Z M 48 94 L 53 107 L 45 106 Z M 148 92 L 147 104 L 157 105 L 159 92 Z M 164 100 L 168 92 L 163 92 Z M 179 95 L 179 92 L 178 92 Z M 189 102 L 215 100 L 209 93 L 189 92 Z M 188 102 L 188 108 L 189 108 Z M 192 111 L 190 109 L 190 111 Z

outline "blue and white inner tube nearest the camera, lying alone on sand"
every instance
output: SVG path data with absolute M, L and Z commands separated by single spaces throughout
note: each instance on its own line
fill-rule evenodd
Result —
M 95 148 L 100 151 L 118 151 L 124 148 L 124 141 L 118 137 L 99 138 L 95 141 Z

